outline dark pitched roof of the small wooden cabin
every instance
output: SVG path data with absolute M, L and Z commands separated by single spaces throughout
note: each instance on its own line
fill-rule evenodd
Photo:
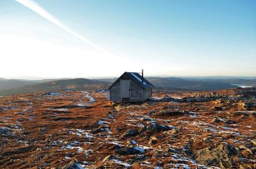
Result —
M 113 84 L 111 84 L 108 87 L 108 90 L 111 89 L 111 87 L 113 87 L 113 85 L 115 85 L 122 77 L 124 77 L 124 75 L 127 75 L 128 77 L 130 77 L 138 85 L 140 85 L 143 89 L 154 87 L 154 85 L 150 84 L 150 82 L 148 82 L 148 80 L 145 78 L 143 78 L 143 82 L 142 82 L 142 77 L 139 73 L 125 71 L 125 73 L 123 73 L 123 75 L 121 75 L 115 82 L 113 82 Z

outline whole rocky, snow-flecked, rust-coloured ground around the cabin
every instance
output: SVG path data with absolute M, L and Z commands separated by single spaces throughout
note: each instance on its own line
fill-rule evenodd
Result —
M 154 91 L 140 104 L 108 92 L 0 98 L 1 168 L 256 168 L 256 89 Z

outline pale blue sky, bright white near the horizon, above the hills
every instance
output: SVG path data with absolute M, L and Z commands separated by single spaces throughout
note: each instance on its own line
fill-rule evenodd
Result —
M 28 2 L 93 45 L 1 0 L 0 77 L 256 76 L 254 0 Z

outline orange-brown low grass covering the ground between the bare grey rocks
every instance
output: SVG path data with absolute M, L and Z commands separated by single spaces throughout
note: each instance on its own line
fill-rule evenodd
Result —
M 241 89 L 218 91 L 217 94 L 236 95 Z M 159 163 L 168 168 L 175 163 L 172 158 L 174 152 L 168 152 L 172 148 L 179 153 L 179 156 L 192 159 L 191 156 L 182 151 L 182 148 L 189 147 L 189 151 L 197 151 L 219 145 L 226 142 L 235 147 L 244 145 L 252 147 L 255 138 L 253 132 L 256 130 L 255 116 L 237 114 L 236 111 L 244 111 L 236 101 L 145 101 L 137 104 L 113 104 L 106 96 L 107 93 L 90 92 L 95 102 L 90 101 L 81 91 L 66 92 L 65 96 L 44 96 L 44 92 L 32 94 L 20 94 L 0 98 L 0 127 L 12 129 L 12 135 L 0 136 L 0 166 L 1 168 L 60 168 L 70 161 L 77 159 L 79 163 L 87 161 L 90 166 L 104 165 L 102 160 L 108 155 L 114 155 L 125 163 L 131 163 L 131 168 L 147 168 L 141 165 L 143 161 L 150 162 L 153 168 Z M 211 92 L 154 92 L 156 97 L 195 97 L 211 95 Z M 242 99 L 242 98 L 241 98 Z M 241 100 L 240 100 L 241 101 Z M 77 105 L 84 104 L 84 107 Z M 4 107 L 8 110 L 3 110 Z M 12 108 L 14 107 L 14 108 Z M 167 110 L 166 110 L 167 107 Z M 223 107 L 223 110 L 214 110 L 212 107 Z M 2 109 L 1 109 L 2 108 Z M 9 110 L 10 109 L 10 110 Z M 157 115 L 157 112 L 177 110 L 180 115 Z M 255 111 L 255 108 L 252 108 Z M 193 114 L 194 113 L 194 114 Z M 110 116 L 109 116 L 110 115 Z M 173 126 L 177 132 L 164 133 L 158 131 L 147 133 L 143 129 L 148 128 L 150 123 L 148 117 L 166 126 Z M 214 119 L 223 121 L 214 122 Z M 226 123 L 228 120 L 234 124 Z M 103 127 L 106 124 L 98 124 L 99 121 L 108 122 L 108 131 L 92 133 L 92 129 Z M 105 126 L 104 126 L 105 125 Z M 144 126 L 144 127 L 143 127 Z M 137 136 L 122 135 L 128 129 L 140 131 Z M 79 135 L 81 131 L 81 135 Z M 229 131 L 233 133 L 229 133 Z M 84 133 L 83 133 L 84 132 Z M 88 136 L 93 136 L 89 139 Z M 239 135 L 237 134 L 239 133 Z M 156 137 L 156 143 L 149 143 L 152 137 Z M 124 147 L 131 147 L 131 140 L 138 143 L 138 147 L 150 147 L 144 156 L 145 160 L 130 162 L 136 155 L 122 156 L 116 154 L 116 145 L 111 142 L 118 142 Z M 67 145 L 81 147 L 68 149 Z M 87 151 L 87 152 L 85 152 Z M 167 155 L 157 158 L 156 152 L 166 152 Z M 241 151 L 244 158 L 253 159 L 250 151 Z M 181 160 L 181 159 L 179 159 Z M 244 161 L 237 159 L 237 167 L 243 165 Z M 113 163 L 107 160 L 106 163 Z M 179 163 L 182 163 L 180 161 Z M 184 162 L 185 163 L 185 162 Z M 191 168 L 198 167 L 197 164 L 186 162 Z M 115 166 L 115 165 L 114 165 Z M 116 165 L 120 166 L 120 164 Z M 246 165 L 244 165 L 246 166 Z M 251 162 L 248 166 L 253 167 Z M 173 165 L 174 167 L 174 165 Z

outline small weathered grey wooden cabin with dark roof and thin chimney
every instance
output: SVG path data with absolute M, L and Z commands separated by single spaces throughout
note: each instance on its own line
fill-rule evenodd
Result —
M 108 88 L 110 100 L 114 102 L 140 102 L 152 97 L 150 82 L 139 73 L 125 72 Z

